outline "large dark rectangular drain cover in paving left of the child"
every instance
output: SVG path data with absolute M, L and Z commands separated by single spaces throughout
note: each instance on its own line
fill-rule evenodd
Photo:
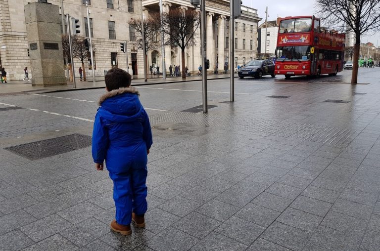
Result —
M 83 134 L 71 134 L 63 137 L 7 147 L 4 149 L 29 160 L 39 160 L 88 146 L 91 146 L 90 136 Z

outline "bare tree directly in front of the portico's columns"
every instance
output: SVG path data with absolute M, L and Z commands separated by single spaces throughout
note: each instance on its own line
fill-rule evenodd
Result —
M 159 16 L 156 18 L 158 19 Z M 170 9 L 160 17 L 161 31 L 167 37 L 166 45 L 179 46 L 182 55 L 182 78 L 186 79 L 185 48 L 195 44 L 195 30 L 199 27 L 199 15 L 195 10 Z M 159 20 L 159 19 L 158 19 Z

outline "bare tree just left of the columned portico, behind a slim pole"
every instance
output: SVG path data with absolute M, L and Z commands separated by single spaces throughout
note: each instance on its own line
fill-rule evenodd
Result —
M 145 51 L 144 56 L 145 60 L 147 62 L 147 53 L 149 50 L 154 50 L 159 46 L 159 41 L 157 39 L 158 37 L 158 31 L 160 28 L 159 20 L 156 20 L 154 18 L 146 18 L 143 19 L 143 26 L 144 26 L 144 38 L 142 38 L 142 25 L 141 25 L 141 19 L 131 19 L 128 23 L 130 26 L 132 26 L 137 34 L 138 34 L 138 41 L 139 41 L 139 49 L 142 48 L 142 40 L 145 40 Z M 148 67 L 146 67 L 146 72 L 148 71 Z

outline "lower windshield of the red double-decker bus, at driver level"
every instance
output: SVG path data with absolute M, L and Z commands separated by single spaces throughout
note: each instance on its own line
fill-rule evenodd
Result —
M 277 47 L 277 61 L 307 61 L 310 60 L 311 46 L 284 46 Z

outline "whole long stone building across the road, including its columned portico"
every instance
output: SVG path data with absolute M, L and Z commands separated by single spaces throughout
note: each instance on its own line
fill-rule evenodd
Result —
M 0 65 L 5 67 L 9 81 L 22 80 L 23 69 L 27 66 L 30 77 L 33 78 L 33 66 L 28 57 L 28 41 L 25 25 L 24 6 L 38 0 L 0 0 Z M 47 0 L 61 7 L 62 0 Z M 159 0 L 87 0 L 89 3 L 91 34 L 95 51 L 95 76 L 103 76 L 104 70 L 111 67 L 127 69 L 134 75 L 143 74 L 143 52 L 138 49 L 138 38 L 135 30 L 129 27 L 128 20 L 148 16 L 151 12 L 159 12 Z M 89 36 L 87 28 L 86 0 L 63 0 L 64 14 L 79 19 L 82 37 Z M 163 2 L 164 10 L 169 8 L 193 8 L 190 0 L 169 0 Z M 257 55 L 257 25 L 261 20 L 257 10 L 242 6 L 242 16 L 235 19 L 235 57 L 237 64 L 248 62 Z M 60 8 L 60 13 L 62 9 Z M 212 68 L 217 62 L 223 69 L 229 57 L 229 16 L 230 1 L 207 0 L 207 58 Z M 186 64 L 190 71 L 197 71 L 201 64 L 200 32 L 196 31 L 197 43 L 189 47 L 185 53 Z M 160 36 L 158 36 L 160 37 Z M 120 42 L 127 42 L 127 53 L 120 50 Z M 148 65 L 161 64 L 161 47 L 148 52 Z M 89 53 L 90 54 L 90 53 Z M 170 64 L 180 65 L 181 51 L 178 47 L 166 46 L 166 69 Z M 82 66 L 78 59 L 74 60 L 75 69 Z M 93 64 L 90 59 L 85 61 L 87 77 L 92 76 Z M 235 66 L 236 67 L 236 66 Z M 77 73 L 78 75 L 78 73 Z

